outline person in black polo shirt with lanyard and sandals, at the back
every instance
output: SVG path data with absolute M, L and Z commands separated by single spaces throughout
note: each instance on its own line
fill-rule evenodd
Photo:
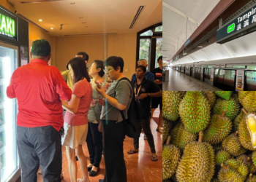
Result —
M 139 138 L 140 132 L 143 128 L 148 139 L 148 145 L 151 149 L 151 160 L 157 161 L 156 149 L 154 146 L 154 138 L 150 129 L 151 98 L 162 96 L 161 89 L 153 81 L 145 78 L 146 67 L 138 66 L 135 71 L 136 79 L 132 81 L 132 89 L 134 90 L 134 97 L 136 100 L 135 113 L 138 138 L 133 138 L 134 149 L 127 151 L 128 154 L 135 154 L 139 152 Z

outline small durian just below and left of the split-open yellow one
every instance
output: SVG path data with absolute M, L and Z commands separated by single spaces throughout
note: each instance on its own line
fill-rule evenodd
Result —
M 231 155 L 235 157 L 238 157 L 246 152 L 246 149 L 241 146 L 237 135 L 238 132 L 232 133 L 227 138 L 225 138 L 224 141 L 222 141 L 222 148 L 227 150 Z

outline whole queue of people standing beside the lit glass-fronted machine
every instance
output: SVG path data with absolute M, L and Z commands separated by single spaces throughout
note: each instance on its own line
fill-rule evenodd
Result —
M 97 175 L 102 152 L 105 178 L 99 182 L 126 182 L 124 119 L 128 117 L 132 98 L 135 98 L 136 121 L 133 124 L 137 137 L 134 138 L 134 149 L 128 154 L 138 153 L 143 128 L 151 149 L 151 160 L 158 160 L 150 128 L 150 106 L 153 106 L 151 98 L 161 99 L 162 80 L 157 71 L 154 74 L 146 71 L 146 60 L 138 61 L 138 65 L 142 65 L 136 68 L 135 76 L 129 82 L 124 79 L 124 60 L 117 56 L 105 61 L 94 60 L 88 69 L 89 55 L 78 52 L 67 63 L 67 71 L 60 73 L 56 67 L 48 66 L 50 44 L 39 39 L 32 43 L 31 58 L 29 64 L 14 71 L 7 87 L 7 96 L 18 100 L 21 181 L 37 181 L 39 167 L 43 181 L 61 181 L 63 145 L 71 182 L 89 182 L 89 176 Z M 159 60 L 162 61 L 162 57 Z M 103 77 L 105 74 L 113 82 L 108 83 Z M 148 75 L 150 79 L 147 79 Z M 154 107 L 157 103 L 159 100 Z M 159 127 L 157 130 L 161 132 Z M 82 149 L 85 143 L 89 164 Z M 77 175 L 77 160 L 82 178 Z

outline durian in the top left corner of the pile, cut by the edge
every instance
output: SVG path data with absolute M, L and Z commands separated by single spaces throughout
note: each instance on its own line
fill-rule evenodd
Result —
M 165 91 L 162 92 L 162 117 L 176 121 L 178 119 L 178 106 L 181 102 L 181 98 L 184 96 L 184 92 Z

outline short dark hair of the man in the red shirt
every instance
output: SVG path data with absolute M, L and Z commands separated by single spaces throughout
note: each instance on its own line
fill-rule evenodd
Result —
M 43 56 L 43 57 L 50 55 L 49 42 L 45 39 L 39 39 L 39 40 L 33 41 L 31 45 L 31 53 L 32 55 Z

